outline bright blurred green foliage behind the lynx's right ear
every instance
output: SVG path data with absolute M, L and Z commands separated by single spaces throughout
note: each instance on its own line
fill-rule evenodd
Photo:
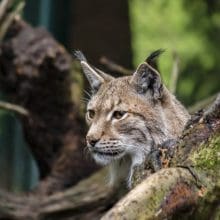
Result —
M 169 86 L 173 52 L 180 58 L 177 96 L 191 105 L 220 89 L 220 3 L 213 0 L 129 0 L 134 65 L 158 48 Z

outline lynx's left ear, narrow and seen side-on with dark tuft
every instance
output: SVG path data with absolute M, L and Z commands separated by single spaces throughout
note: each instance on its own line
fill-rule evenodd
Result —
M 108 74 L 102 72 L 101 70 L 93 68 L 87 62 L 85 56 L 83 55 L 81 51 L 74 51 L 74 56 L 76 57 L 76 59 L 80 61 L 83 72 L 86 78 L 88 79 L 93 92 L 97 92 L 102 83 L 112 79 L 112 77 L 109 76 Z

